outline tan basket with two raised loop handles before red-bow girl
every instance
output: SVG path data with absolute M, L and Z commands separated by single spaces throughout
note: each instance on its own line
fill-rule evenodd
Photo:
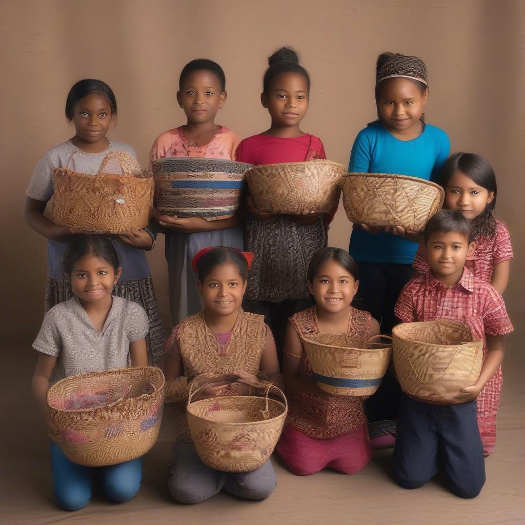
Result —
M 209 382 L 209 381 L 208 381 Z M 193 401 L 206 384 L 190 390 L 186 415 L 203 463 L 225 472 L 251 472 L 274 451 L 285 423 L 286 396 L 268 383 L 264 397 L 224 396 Z M 275 392 L 282 402 L 269 398 Z

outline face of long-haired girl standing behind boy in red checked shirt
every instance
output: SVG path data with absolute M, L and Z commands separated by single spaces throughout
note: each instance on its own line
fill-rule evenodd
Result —
M 493 198 L 494 192 L 459 170 L 451 175 L 445 188 L 445 208 L 459 210 L 468 220 L 475 219 Z

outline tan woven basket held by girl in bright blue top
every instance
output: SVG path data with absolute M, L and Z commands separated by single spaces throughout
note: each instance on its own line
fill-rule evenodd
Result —
M 422 233 L 444 198 L 441 186 L 423 178 L 387 173 L 344 175 L 343 206 L 356 224 L 403 226 Z

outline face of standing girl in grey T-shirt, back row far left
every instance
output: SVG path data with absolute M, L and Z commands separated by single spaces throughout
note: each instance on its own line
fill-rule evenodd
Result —
M 109 102 L 100 93 L 80 99 L 74 110 L 75 134 L 84 142 L 94 144 L 103 140 L 111 124 Z

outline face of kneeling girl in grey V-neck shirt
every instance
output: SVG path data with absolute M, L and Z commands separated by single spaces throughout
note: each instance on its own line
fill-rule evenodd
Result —
M 122 272 L 117 272 L 107 260 L 86 255 L 75 262 L 71 272 L 71 289 L 80 301 L 96 302 L 111 296 L 113 286 Z

